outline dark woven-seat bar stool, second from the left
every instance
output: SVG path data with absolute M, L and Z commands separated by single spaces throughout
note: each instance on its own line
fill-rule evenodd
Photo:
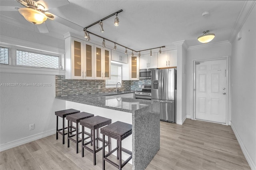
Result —
M 68 120 L 68 127 L 70 127 L 70 130 L 68 128 L 68 148 L 69 148 L 69 140 L 73 141 L 76 143 L 76 153 L 78 153 L 78 143 L 81 142 L 82 140 L 78 140 L 78 135 L 81 134 L 82 132 L 79 132 L 78 130 L 78 123 L 82 119 L 87 119 L 89 117 L 94 117 L 93 114 L 86 113 L 86 112 L 80 112 L 80 113 L 75 113 L 72 115 L 68 115 L 66 119 Z M 73 127 L 73 122 L 76 123 L 76 127 Z M 71 124 L 70 124 L 71 123 Z M 74 129 L 74 130 L 72 130 Z M 76 134 L 72 134 L 73 132 L 76 132 Z M 91 136 L 90 133 L 85 132 L 88 136 Z M 76 136 L 76 140 L 74 140 L 72 137 Z

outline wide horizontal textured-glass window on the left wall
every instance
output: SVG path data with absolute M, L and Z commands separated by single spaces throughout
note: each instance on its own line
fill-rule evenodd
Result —
M 58 56 L 44 55 L 26 51 L 16 51 L 17 65 L 32 66 L 32 67 L 44 67 L 59 69 L 60 58 Z

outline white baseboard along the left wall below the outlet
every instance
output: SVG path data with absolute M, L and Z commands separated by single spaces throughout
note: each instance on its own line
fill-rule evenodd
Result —
M 14 140 L 12 142 L 1 144 L 0 145 L 0 152 L 2 152 L 4 150 L 7 150 L 7 149 L 10 149 L 10 148 L 14 148 L 16 146 L 20 146 L 20 145 L 28 143 L 28 142 L 32 142 L 34 140 L 38 140 L 40 138 L 44 138 L 46 136 L 50 136 L 50 135 L 55 134 L 55 133 L 56 133 L 56 129 L 52 129 L 52 130 L 49 130 L 49 131 L 46 131 L 46 132 L 41 132 L 41 133 L 38 133 L 38 134 L 34 134 L 32 136 L 27 136 L 25 138 L 21 138 L 21 139 L 18 139 L 18 140 Z

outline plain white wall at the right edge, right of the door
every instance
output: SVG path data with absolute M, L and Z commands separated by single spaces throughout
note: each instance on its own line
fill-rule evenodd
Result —
M 252 168 L 256 169 L 256 6 L 232 43 L 231 127 Z M 250 30 L 250 31 L 249 31 Z

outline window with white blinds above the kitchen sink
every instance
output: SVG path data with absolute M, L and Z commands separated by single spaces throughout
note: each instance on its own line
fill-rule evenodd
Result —
M 111 79 L 106 80 L 106 87 L 116 87 L 116 83 L 122 81 L 122 65 L 111 63 Z

